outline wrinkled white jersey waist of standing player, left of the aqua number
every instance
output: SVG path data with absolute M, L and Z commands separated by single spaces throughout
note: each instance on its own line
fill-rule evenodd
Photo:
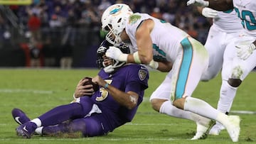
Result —
M 218 17 L 213 18 L 213 25 L 225 33 L 234 33 L 242 30 L 241 20 L 236 15 L 234 9 L 230 11 L 218 11 Z

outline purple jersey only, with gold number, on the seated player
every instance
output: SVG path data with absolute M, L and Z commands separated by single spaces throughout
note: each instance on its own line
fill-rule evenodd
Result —
M 100 87 L 100 90 L 95 92 L 91 98 L 102 110 L 102 113 L 107 113 L 114 127 L 132 121 L 139 104 L 142 102 L 144 89 L 148 87 L 149 72 L 146 67 L 130 64 L 120 67 L 119 70 L 113 74 L 108 74 L 104 72 L 104 70 L 101 70 L 99 75 L 102 79 L 105 79 L 106 82 L 122 92 L 132 91 L 139 94 L 138 104 L 132 110 L 118 104 L 103 87 Z

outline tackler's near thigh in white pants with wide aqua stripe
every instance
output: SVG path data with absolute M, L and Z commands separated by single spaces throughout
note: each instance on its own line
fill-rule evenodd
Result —
M 191 96 L 208 67 L 208 53 L 201 43 L 188 38 L 182 44 L 171 74 L 171 101 Z

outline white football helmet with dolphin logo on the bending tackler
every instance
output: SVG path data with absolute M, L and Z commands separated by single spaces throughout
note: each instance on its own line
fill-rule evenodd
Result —
M 127 4 L 114 4 L 102 14 L 102 30 L 107 31 L 106 40 L 112 45 L 122 42 L 120 35 L 132 15 Z

